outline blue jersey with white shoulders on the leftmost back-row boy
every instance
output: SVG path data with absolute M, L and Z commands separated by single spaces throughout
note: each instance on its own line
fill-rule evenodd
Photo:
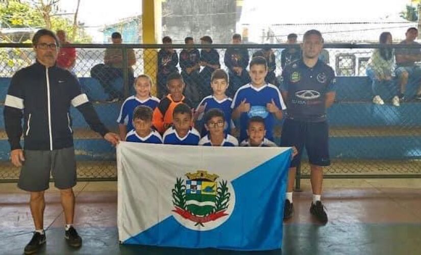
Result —
M 134 129 L 132 120 L 133 120 L 133 111 L 138 106 L 148 106 L 152 110 L 159 104 L 159 99 L 155 96 L 150 96 L 145 100 L 140 100 L 136 96 L 129 96 L 121 105 L 120 114 L 118 115 L 117 122 L 119 124 L 127 125 L 127 130 Z

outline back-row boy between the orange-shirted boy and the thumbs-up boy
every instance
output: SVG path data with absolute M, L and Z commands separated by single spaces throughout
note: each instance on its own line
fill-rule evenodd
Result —
M 225 94 L 228 88 L 227 72 L 222 69 L 216 69 L 212 73 L 210 85 L 213 90 L 213 95 L 209 95 L 203 98 L 197 107 L 196 112 L 194 113 L 194 120 L 201 120 L 201 116 L 206 114 L 210 109 L 219 109 L 224 112 L 224 132 L 228 134 L 231 132 L 232 99 Z M 202 136 L 205 136 L 207 133 L 206 129 L 200 128 L 199 131 L 201 132 Z

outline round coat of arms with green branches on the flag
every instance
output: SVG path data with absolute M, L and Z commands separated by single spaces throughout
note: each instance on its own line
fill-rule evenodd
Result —
M 191 230 L 205 231 L 221 225 L 235 205 L 234 188 L 219 175 L 197 170 L 178 177 L 172 189 L 173 216 Z

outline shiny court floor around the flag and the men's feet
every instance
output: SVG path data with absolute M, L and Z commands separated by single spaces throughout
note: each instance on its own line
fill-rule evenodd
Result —
M 261 252 L 120 245 L 115 182 L 79 182 L 75 187 L 75 226 L 83 245 L 70 249 L 63 237 L 60 196 L 52 188 L 46 192 L 47 245 L 39 254 L 421 254 L 421 180 L 325 180 L 324 184 L 328 224 L 319 225 L 310 215 L 310 184 L 303 180 L 303 192 L 294 192 L 295 214 L 284 225 L 282 251 Z M 15 184 L 0 184 L 2 254 L 22 254 L 31 239 L 28 199 Z

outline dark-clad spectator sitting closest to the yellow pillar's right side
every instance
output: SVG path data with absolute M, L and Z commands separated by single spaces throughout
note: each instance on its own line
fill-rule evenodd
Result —
M 166 47 L 159 50 L 158 53 L 158 75 L 157 75 L 157 95 L 162 98 L 168 94 L 167 77 L 170 73 L 178 72 L 178 55 L 172 44 L 172 39 L 169 36 L 162 38 L 162 44 Z

